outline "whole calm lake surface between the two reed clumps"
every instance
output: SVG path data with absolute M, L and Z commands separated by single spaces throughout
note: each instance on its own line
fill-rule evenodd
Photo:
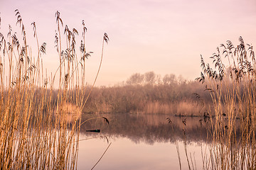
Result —
M 207 145 L 201 118 L 116 113 L 88 114 L 84 119 L 98 116 L 106 117 L 110 125 L 103 119 L 82 125 L 78 169 L 92 169 L 110 143 L 95 169 L 179 169 L 177 146 L 182 169 L 188 169 L 184 140 L 194 168 L 203 169 L 201 151 L 207 152 Z M 171 118 L 170 124 L 166 118 Z M 101 132 L 85 132 L 93 129 Z

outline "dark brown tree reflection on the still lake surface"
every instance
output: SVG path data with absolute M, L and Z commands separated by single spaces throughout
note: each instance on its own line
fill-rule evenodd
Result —
M 83 119 L 92 118 L 98 115 L 83 115 Z M 182 123 L 183 118 L 171 117 L 172 123 L 166 121 L 168 115 L 138 115 L 138 114 L 104 114 L 110 125 L 101 119 L 91 120 L 82 125 L 80 132 L 85 135 L 95 135 L 95 133 L 85 132 L 85 130 L 100 129 L 100 135 L 110 137 L 127 137 L 133 142 L 176 142 L 183 140 L 186 132 L 187 142 L 206 141 L 206 123 L 201 123 L 201 118 L 186 118 L 186 126 Z

